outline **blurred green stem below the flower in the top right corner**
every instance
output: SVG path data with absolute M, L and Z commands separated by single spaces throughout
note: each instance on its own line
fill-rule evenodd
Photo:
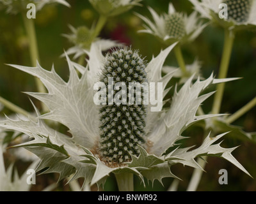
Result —
M 225 43 L 223 48 L 223 55 L 221 59 L 221 65 L 220 65 L 220 73 L 218 78 L 226 78 L 228 73 L 228 66 L 230 63 L 230 57 L 232 53 L 232 48 L 234 44 L 234 33 L 232 31 L 229 31 L 228 29 L 225 30 Z M 217 85 L 217 91 L 214 96 L 213 106 L 212 106 L 212 114 L 218 114 L 220 113 L 220 106 L 221 101 L 223 98 L 223 93 L 225 89 L 225 83 L 221 83 Z

